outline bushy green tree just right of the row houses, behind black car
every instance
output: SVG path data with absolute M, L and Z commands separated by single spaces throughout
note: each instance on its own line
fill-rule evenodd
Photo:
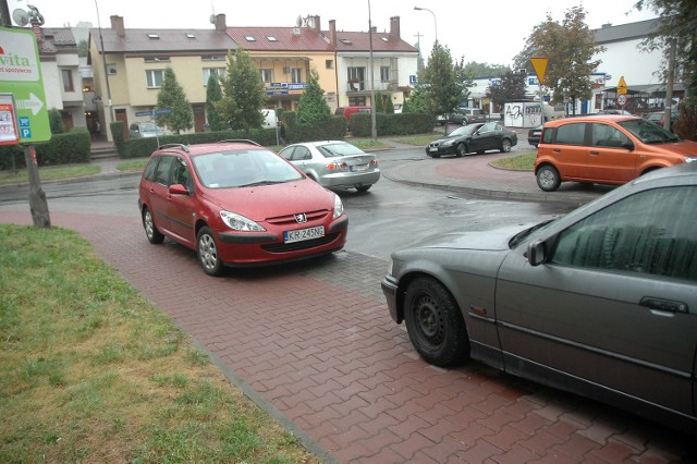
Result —
M 418 75 L 423 85 L 426 109 L 431 114 L 453 112 L 458 103 L 469 97 L 467 87 L 472 85 L 472 76 L 467 74 L 464 59 L 453 62 L 448 47 L 439 42 L 428 60 L 428 65 Z

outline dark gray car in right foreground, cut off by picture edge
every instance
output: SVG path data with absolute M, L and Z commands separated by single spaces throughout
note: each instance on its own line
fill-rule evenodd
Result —
M 381 286 L 428 363 L 505 373 L 697 434 L 697 163 L 551 222 L 440 233 Z

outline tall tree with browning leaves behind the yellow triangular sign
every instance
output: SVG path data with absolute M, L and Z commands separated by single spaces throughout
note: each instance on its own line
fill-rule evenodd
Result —
M 553 103 L 566 99 L 575 103 L 592 97 L 590 74 L 596 72 L 600 60 L 591 59 L 604 51 L 604 47 L 596 45 L 596 37 L 585 20 L 583 7 L 566 10 L 561 23 L 548 14 L 547 21 L 535 26 L 525 48 L 515 58 L 515 65 L 526 70 L 531 69 L 531 57 L 548 59 L 545 85 L 552 91 Z

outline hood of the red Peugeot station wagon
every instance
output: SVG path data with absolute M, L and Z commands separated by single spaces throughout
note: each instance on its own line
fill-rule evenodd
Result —
M 203 196 L 221 209 L 253 221 L 319 209 L 331 210 L 334 206 L 334 194 L 309 179 L 252 187 L 212 188 L 206 190 Z

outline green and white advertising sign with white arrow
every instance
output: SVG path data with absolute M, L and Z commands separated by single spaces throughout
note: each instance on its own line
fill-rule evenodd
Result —
M 36 36 L 32 30 L 0 27 L 0 94 L 12 94 L 20 143 L 51 139 Z

